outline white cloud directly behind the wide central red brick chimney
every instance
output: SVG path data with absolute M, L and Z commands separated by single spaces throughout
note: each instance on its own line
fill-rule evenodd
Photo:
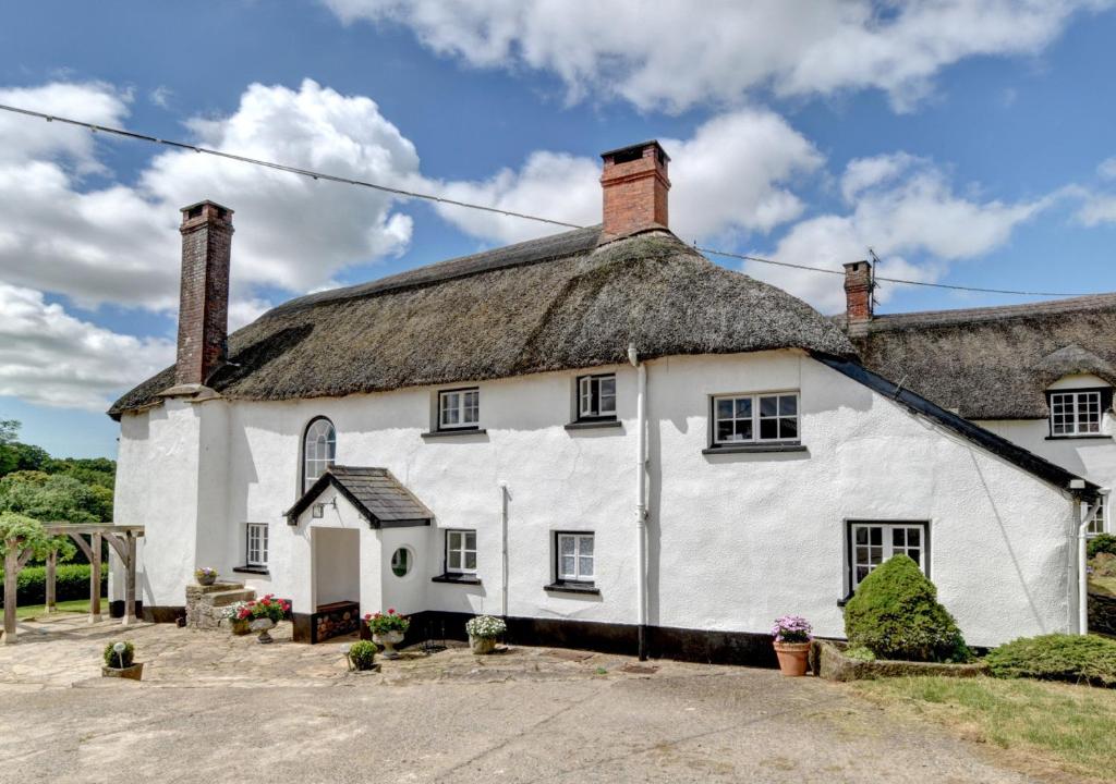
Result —
M 788 187 L 817 170 L 821 155 L 780 116 L 741 109 L 714 117 L 689 139 L 662 139 L 671 156 L 671 229 L 686 239 L 735 231 L 770 231 L 798 217 L 802 203 Z M 452 199 L 545 215 L 577 225 L 600 222 L 600 162 L 536 152 L 518 170 L 482 182 L 431 183 Z M 489 213 L 439 206 L 463 231 L 516 242 L 550 234 L 555 226 Z

